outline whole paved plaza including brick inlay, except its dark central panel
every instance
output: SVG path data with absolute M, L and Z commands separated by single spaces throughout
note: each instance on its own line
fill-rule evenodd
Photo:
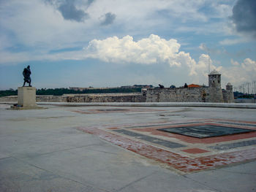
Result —
M 0 105 L 0 191 L 256 191 L 256 131 L 199 139 L 158 129 L 256 130 L 256 110 Z

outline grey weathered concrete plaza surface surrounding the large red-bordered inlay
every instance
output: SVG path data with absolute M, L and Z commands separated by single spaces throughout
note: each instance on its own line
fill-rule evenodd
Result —
M 255 109 L 7 107 L 0 105 L 0 191 L 256 191 L 254 160 L 184 174 L 77 129 L 206 119 L 255 123 Z

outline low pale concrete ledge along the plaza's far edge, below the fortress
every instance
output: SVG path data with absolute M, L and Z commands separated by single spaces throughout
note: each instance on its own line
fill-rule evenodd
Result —
M 67 103 L 67 102 L 37 102 L 38 105 L 57 105 L 57 106 L 120 106 L 120 107 L 227 107 L 227 108 L 247 108 L 256 109 L 256 104 L 248 103 L 199 103 L 199 102 L 113 102 L 113 103 Z

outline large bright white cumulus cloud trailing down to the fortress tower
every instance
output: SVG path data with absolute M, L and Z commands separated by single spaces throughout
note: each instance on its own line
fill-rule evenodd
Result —
M 181 45 L 176 39 L 167 40 L 151 34 L 148 38 L 140 39 L 137 42 L 129 35 L 120 39 L 118 37 L 93 39 L 84 50 L 85 57 L 97 58 L 108 63 L 176 66 L 176 69 L 184 72 L 189 80 L 197 83 L 206 83 L 208 64 L 210 64 L 211 70 L 222 70 L 222 66 L 214 66 L 209 55 L 200 55 L 197 62 L 190 56 L 190 53 L 180 51 L 180 47 Z M 176 69 L 173 69 L 172 72 L 175 72 Z

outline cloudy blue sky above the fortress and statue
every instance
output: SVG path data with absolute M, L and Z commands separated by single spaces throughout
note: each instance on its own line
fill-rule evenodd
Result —
M 255 0 L 0 0 L 0 89 L 256 80 Z M 210 53 L 210 57 L 208 57 Z

